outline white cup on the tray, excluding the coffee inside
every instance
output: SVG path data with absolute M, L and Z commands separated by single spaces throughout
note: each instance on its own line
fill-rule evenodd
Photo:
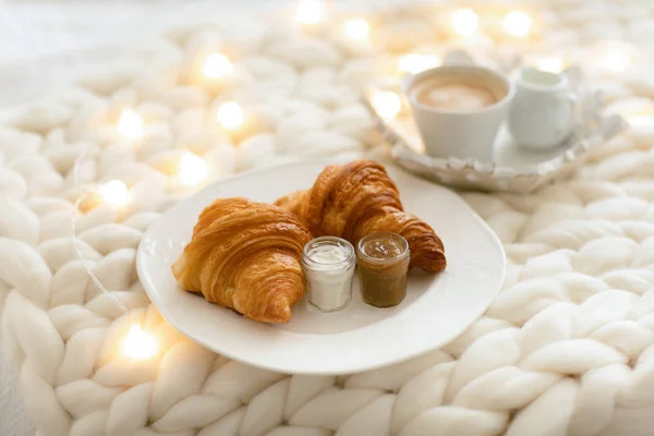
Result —
M 461 83 L 488 90 L 495 102 L 475 109 L 450 110 L 424 105 L 415 89 L 423 81 Z M 493 160 L 493 143 L 511 98 L 513 86 L 504 74 L 476 64 L 451 63 L 408 75 L 402 82 L 425 152 L 434 157 Z

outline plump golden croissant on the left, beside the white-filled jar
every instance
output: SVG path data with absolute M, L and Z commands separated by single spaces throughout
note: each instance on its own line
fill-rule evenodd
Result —
M 304 294 L 301 267 L 311 234 L 296 216 L 245 198 L 217 199 L 172 265 L 187 291 L 264 323 L 288 323 Z

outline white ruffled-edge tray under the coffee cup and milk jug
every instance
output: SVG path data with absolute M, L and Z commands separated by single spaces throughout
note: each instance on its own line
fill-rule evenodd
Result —
M 467 55 L 457 50 L 448 57 L 460 60 Z M 468 159 L 427 156 L 410 116 L 386 121 L 365 96 L 362 101 L 375 119 L 377 130 L 392 146 L 392 158 L 408 171 L 457 189 L 529 193 L 565 177 L 584 162 L 590 148 L 604 144 L 627 126 L 621 117 L 603 113 L 602 94 L 589 88 L 581 69 L 573 66 L 564 73 L 580 98 L 578 126 L 569 140 L 553 150 L 530 152 L 519 147 L 502 125 L 494 144 L 493 161 L 474 156 Z

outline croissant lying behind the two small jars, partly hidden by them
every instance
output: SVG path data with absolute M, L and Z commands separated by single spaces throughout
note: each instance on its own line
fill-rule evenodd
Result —
M 446 267 L 440 239 L 429 225 L 403 211 L 398 187 L 373 160 L 328 166 L 310 190 L 275 204 L 298 215 L 315 237 L 339 237 L 356 246 L 368 233 L 391 231 L 409 242 L 410 267 L 429 272 Z

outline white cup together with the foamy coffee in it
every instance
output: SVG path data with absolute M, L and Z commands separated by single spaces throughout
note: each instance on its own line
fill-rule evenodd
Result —
M 446 63 L 408 75 L 402 90 L 427 155 L 493 160 L 495 136 L 513 97 L 506 75 L 476 64 Z

